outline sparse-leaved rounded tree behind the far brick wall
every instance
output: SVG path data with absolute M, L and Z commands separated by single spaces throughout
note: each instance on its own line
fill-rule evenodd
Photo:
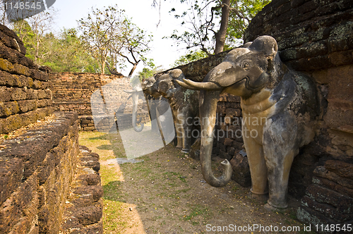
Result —
M 133 65 L 129 76 L 140 61 L 149 62 L 145 54 L 150 50 L 151 37 L 131 23 L 116 5 L 102 10 L 92 8 L 87 18 L 78 20 L 78 25 L 82 32 L 80 38 L 96 59 L 101 73 L 105 73 L 106 63 L 110 68 L 124 66 L 121 58 Z

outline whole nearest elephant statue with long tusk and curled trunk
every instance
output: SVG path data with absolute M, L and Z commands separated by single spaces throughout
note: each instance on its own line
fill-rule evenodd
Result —
M 269 193 L 268 209 L 287 207 L 289 171 L 299 147 L 315 136 L 318 92 L 315 83 L 280 60 L 273 37 L 256 38 L 229 51 L 222 63 L 210 70 L 203 82 L 184 80 L 179 85 L 200 92 L 201 168 L 212 186 L 228 183 L 232 166 L 216 178 L 211 152 L 217 100 L 221 93 L 241 97 L 242 134 L 251 171 L 251 192 Z M 204 133 L 205 132 L 205 133 Z

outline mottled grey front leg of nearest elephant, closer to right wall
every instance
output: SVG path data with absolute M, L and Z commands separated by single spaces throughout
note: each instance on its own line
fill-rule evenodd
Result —
M 287 208 L 289 171 L 297 147 L 297 125 L 291 118 L 279 118 L 263 133 L 263 151 L 268 167 L 269 199 L 266 206 Z

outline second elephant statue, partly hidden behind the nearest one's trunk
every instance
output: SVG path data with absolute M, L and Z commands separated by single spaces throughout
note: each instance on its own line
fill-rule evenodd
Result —
M 193 123 L 198 117 L 198 91 L 186 90 L 175 82 L 184 78 L 180 69 L 170 70 L 156 78 L 151 87 L 151 94 L 154 97 L 162 95 L 168 99 L 177 131 L 177 148 L 188 153 L 193 139 Z

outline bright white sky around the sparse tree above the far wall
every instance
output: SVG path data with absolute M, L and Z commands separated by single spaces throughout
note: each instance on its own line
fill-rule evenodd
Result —
M 126 16 L 132 18 L 132 22 L 138 27 L 153 35 L 148 58 L 153 58 L 156 66 L 162 66 L 163 69 L 171 68 L 174 61 L 179 56 L 185 55 L 186 51 L 182 47 L 177 47 L 173 39 L 162 39 L 162 37 L 170 37 L 174 29 L 184 31 L 180 26 L 180 21 L 169 14 L 174 8 L 185 8 L 185 4 L 181 5 L 179 0 L 163 1 L 161 4 L 161 14 L 158 8 L 152 7 L 152 0 L 56 0 L 52 6 L 59 10 L 56 16 L 56 25 L 54 30 L 60 32 L 63 27 L 78 27 L 76 20 L 85 18 L 92 8 L 104 8 L 104 6 L 114 5 L 126 11 Z M 157 27 L 157 23 L 160 24 Z M 126 61 L 127 68 L 122 73 L 127 75 L 131 69 L 131 64 Z M 143 63 L 140 62 L 133 75 L 143 69 Z

